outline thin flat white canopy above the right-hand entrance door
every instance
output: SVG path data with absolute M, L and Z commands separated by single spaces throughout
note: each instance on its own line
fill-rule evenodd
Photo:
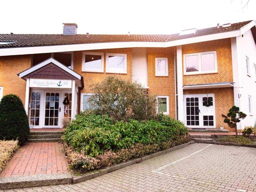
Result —
M 221 82 L 221 83 L 184 85 L 183 89 L 210 89 L 210 88 L 225 88 L 225 87 L 234 87 L 234 83 L 233 82 Z

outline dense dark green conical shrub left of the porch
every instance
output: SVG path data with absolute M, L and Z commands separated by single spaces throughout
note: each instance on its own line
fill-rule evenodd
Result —
M 20 143 L 29 137 L 28 116 L 17 95 L 5 95 L 0 101 L 0 140 L 16 140 Z

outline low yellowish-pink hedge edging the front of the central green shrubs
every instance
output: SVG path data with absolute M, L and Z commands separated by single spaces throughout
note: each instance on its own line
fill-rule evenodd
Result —
M 144 155 L 155 153 L 159 150 L 165 150 L 167 148 L 183 144 L 190 141 L 189 135 L 180 135 L 177 140 L 168 140 L 161 144 L 149 144 L 143 145 L 140 143 L 134 144 L 126 149 L 120 149 L 116 152 L 112 150 L 104 151 L 103 154 L 97 157 L 90 157 L 83 153 L 78 153 L 73 150 L 71 146 L 64 143 L 64 150 L 68 156 L 68 162 L 70 163 L 70 168 L 81 169 L 83 171 L 90 171 L 94 169 L 99 169 L 107 166 L 111 166 L 118 163 L 123 163 L 133 158 L 139 158 Z M 163 148 L 161 148 L 163 146 Z

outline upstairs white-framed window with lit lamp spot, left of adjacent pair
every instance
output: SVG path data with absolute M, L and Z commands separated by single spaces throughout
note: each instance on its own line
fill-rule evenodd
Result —
M 83 52 L 82 71 L 104 72 L 104 53 Z

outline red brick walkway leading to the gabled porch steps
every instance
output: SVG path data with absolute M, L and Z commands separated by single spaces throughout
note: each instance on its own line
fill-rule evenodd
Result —
M 10 159 L 0 177 L 67 173 L 61 143 L 25 143 Z

